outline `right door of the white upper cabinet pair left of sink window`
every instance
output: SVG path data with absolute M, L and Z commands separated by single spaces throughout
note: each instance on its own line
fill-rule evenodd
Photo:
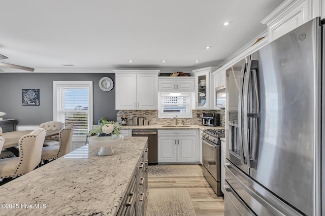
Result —
M 137 75 L 137 109 L 157 110 L 157 75 Z

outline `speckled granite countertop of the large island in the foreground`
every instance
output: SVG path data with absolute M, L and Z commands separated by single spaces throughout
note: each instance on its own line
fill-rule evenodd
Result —
M 125 137 L 109 156 L 86 145 L 0 186 L 0 204 L 11 204 L 0 215 L 115 215 L 147 139 Z

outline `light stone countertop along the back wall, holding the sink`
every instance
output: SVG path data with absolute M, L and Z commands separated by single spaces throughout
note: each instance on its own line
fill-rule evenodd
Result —
M 200 130 L 205 130 L 205 129 L 224 129 L 223 126 L 205 126 L 205 125 L 186 125 L 190 127 L 163 127 L 163 125 L 146 125 L 146 126 L 133 126 L 133 125 L 124 125 L 122 126 L 122 130 L 183 130 L 183 129 L 200 129 Z

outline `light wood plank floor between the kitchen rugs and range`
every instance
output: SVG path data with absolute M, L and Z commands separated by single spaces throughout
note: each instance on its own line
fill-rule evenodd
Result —
M 223 216 L 223 198 L 214 193 L 204 176 L 148 177 L 148 188 L 187 189 L 197 215 Z

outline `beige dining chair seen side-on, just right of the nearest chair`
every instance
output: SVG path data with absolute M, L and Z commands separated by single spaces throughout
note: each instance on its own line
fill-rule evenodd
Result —
M 60 130 L 59 133 L 59 146 L 45 146 L 42 149 L 41 160 L 43 164 L 48 163 L 50 160 L 57 159 L 70 152 L 72 135 L 75 126 L 70 124 L 66 128 Z

